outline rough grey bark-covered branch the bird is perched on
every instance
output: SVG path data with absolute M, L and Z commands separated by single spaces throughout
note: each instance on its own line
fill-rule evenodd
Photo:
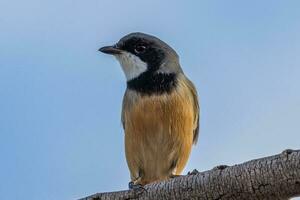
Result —
M 300 150 L 285 150 L 231 167 L 215 167 L 144 188 L 98 193 L 81 200 L 287 200 L 300 196 Z

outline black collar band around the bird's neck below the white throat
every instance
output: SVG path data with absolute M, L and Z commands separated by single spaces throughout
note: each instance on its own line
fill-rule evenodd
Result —
M 127 81 L 127 87 L 147 95 L 169 93 L 176 87 L 176 78 L 175 73 L 146 71 Z

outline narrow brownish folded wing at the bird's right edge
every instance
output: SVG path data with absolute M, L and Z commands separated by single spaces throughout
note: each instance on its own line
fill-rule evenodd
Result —
M 190 81 L 188 78 L 187 82 L 188 82 L 188 87 L 191 91 L 192 97 L 193 97 L 193 105 L 194 105 L 194 132 L 193 132 L 193 143 L 196 144 L 197 140 L 198 140 L 198 136 L 199 136 L 199 120 L 200 120 L 200 106 L 198 103 L 198 95 L 197 95 L 197 90 L 194 86 L 194 84 L 192 83 L 192 81 Z

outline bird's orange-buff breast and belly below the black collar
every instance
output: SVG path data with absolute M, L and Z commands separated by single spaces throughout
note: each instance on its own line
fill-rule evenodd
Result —
M 124 101 L 125 153 L 132 181 L 144 185 L 180 174 L 193 144 L 195 111 L 188 87 L 179 84 L 169 94 L 151 96 L 127 91 Z

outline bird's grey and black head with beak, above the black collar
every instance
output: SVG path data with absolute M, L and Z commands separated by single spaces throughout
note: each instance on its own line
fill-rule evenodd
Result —
M 127 81 L 144 73 L 182 72 L 177 53 L 165 42 L 148 34 L 128 34 L 115 45 L 102 47 L 99 51 L 114 55 L 118 59 Z

